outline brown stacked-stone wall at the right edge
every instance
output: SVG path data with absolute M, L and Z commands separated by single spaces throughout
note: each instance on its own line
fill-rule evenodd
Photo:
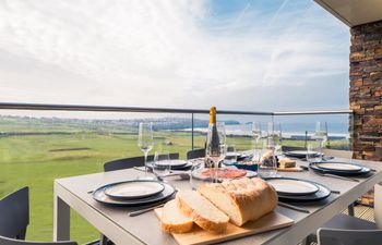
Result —
M 354 157 L 382 160 L 382 21 L 351 27 Z

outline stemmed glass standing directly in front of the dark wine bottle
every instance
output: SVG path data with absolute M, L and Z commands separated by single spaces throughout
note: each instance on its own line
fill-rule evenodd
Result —
M 206 142 L 206 168 L 214 168 L 211 171 L 212 180 L 217 181 L 217 169 L 226 157 L 226 131 L 223 122 L 217 122 L 216 125 L 208 126 Z

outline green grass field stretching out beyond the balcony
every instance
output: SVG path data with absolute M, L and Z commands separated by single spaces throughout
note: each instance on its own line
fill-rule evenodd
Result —
M 22 186 L 29 186 L 31 224 L 27 240 L 33 241 L 52 238 L 55 179 L 102 172 L 106 161 L 142 155 L 133 128 L 0 119 L 0 133 L 4 132 L 71 133 L 0 137 L 0 197 Z M 156 132 L 155 140 L 156 145 L 171 142 L 171 145 L 164 147 L 170 152 L 179 152 L 181 158 L 186 158 L 186 152 L 191 149 L 190 133 Z M 194 140 L 195 147 L 204 146 L 203 135 L 196 134 Z M 238 150 L 248 150 L 252 145 L 249 137 L 228 137 L 227 140 Z M 303 146 L 303 142 L 297 140 L 285 140 L 283 144 Z M 339 140 L 332 143 L 332 146 L 342 147 L 346 144 L 346 140 Z M 81 244 L 98 238 L 97 231 L 76 213 L 72 212 L 71 221 L 72 240 Z

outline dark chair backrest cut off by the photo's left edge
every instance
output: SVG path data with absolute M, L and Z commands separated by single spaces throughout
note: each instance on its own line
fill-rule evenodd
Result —
M 29 188 L 23 187 L 0 200 L 0 235 L 24 240 L 29 224 Z

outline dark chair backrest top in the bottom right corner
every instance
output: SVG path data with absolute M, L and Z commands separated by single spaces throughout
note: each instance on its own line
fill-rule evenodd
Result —
M 380 245 L 381 230 L 341 230 L 321 228 L 317 232 L 319 245 Z

